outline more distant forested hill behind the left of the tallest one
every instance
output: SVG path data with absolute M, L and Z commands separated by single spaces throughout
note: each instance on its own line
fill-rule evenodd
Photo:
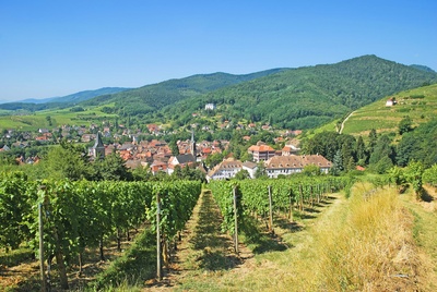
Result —
M 84 102 L 83 106 L 101 106 L 115 102 L 114 112 L 120 114 L 145 114 L 156 111 L 167 105 L 175 104 L 188 97 L 199 96 L 222 87 L 251 81 L 283 71 L 272 69 L 245 75 L 227 73 L 198 74 L 180 80 L 169 80 L 157 84 L 122 92 L 114 95 L 103 95 Z

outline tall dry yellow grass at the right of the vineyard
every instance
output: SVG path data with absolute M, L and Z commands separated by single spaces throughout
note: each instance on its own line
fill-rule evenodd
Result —
M 364 193 L 355 187 L 345 220 L 334 220 L 318 233 L 316 289 L 416 291 L 420 258 L 413 217 L 394 190 Z

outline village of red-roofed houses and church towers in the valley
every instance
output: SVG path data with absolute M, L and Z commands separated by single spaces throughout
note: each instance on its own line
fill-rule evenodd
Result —
M 225 123 L 226 125 L 226 123 Z M 248 125 L 253 129 L 255 124 Z M 248 147 L 248 158 L 246 161 L 240 161 L 234 158 L 232 153 L 228 153 L 229 141 L 199 141 L 194 138 L 194 131 L 191 131 L 191 139 L 177 141 L 177 153 L 172 151 L 170 145 L 163 138 L 161 126 L 156 124 L 147 124 L 149 134 L 153 138 L 140 139 L 142 133 L 130 134 L 130 132 L 119 125 L 120 134 L 113 134 L 111 127 L 98 127 L 92 124 L 86 126 L 68 126 L 63 125 L 58 130 L 49 131 L 48 129 L 38 129 L 37 133 L 19 133 L 10 130 L 4 134 L 3 139 L 13 141 L 10 146 L 7 144 L 0 148 L 0 153 L 10 151 L 13 149 L 25 149 L 31 145 L 56 144 L 59 138 L 78 137 L 75 142 L 94 145 L 88 148 L 90 159 L 95 159 L 97 156 L 104 157 L 111 153 L 117 153 L 128 169 L 149 168 L 153 174 L 164 172 L 172 174 L 179 166 L 181 168 L 188 166 L 190 168 L 199 168 L 208 181 L 211 180 L 227 180 L 234 178 L 239 171 L 246 170 L 251 179 L 256 178 L 257 169 L 261 166 L 265 170 L 269 178 L 277 178 L 279 175 L 288 175 L 292 173 L 302 172 L 308 165 L 315 165 L 320 168 L 320 171 L 328 173 L 331 168 L 331 161 L 319 155 L 299 155 L 299 141 L 295 135 L 302 131 L 287 131 L 285 135 L 275 138 L 275 143 L 284 145 L 281 149 L 274 149 L 262 141 L 256 145 Z M 236 125 L 236 129 L 243 127 Z M 203 130 L 203 129 L 202 129 Z M 203 130 L 205 131 L 205 130 Z M 262 125 L 260 131 L 269 131 L 268 125 Z M 104 139 L 109 138 L 114 143 L 104 144 Z M 250 136 L 243 137 L 249 142 Z M 213 165 L 205 165 L 209 156 L 223 155 L 223 160 Z M 19 163 L 35 163 L 40 158 L 35 155 L 21 155 L 16 158 Z

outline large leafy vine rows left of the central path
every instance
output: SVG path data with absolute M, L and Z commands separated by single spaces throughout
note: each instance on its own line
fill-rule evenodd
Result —
M 200 192 L 201 183 L 191 181 L 34 182 L 22 172 L 3 173 L 0 247 L 8 252 L 28 245 L 39 259 L 46 259 L 42 267 L 47 266 L 47 271 L 56 258 L 59 284 L 68 289 L 67 269 L 79 263 L 81 272 L 85 250 L 97 248 L 104 260 L 108 239 L 115 238 L 120 250 L 122 234 L 129 239 L 130 230 L 144 226 L 156 231 L 160 222 L 158 246 L 166 264 L 170 243 L 190 218 Z M 55 284 L 48 272 L 43 270 L 42 277 L 47 277 L 43 284 Z

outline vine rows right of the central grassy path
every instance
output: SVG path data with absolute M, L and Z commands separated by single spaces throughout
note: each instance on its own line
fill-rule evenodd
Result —
M 329 193 L 338 192 L 350 184 L 350 179 L 327 177 L 297 180 L 214 181 L 209 187 L 223 215 L 222 230 L 234 234 L 235 247 L 237 247 L 238 224 L 244 227 L 245 219 L 248 217 L 264 222 L 269 232 L 273 233 L 273 212 L 293 221 L 295 209 L 302 217 L 305 209 L 311 209 Z

